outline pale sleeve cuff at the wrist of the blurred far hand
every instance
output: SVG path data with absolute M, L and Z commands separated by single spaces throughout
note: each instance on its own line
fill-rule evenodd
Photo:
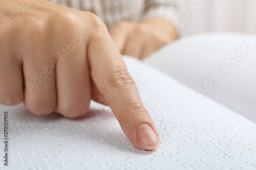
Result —
M 178 0 L 145 0 L 143 19 L 148 17 L 161 17 L 175 25 L 180 20 Z

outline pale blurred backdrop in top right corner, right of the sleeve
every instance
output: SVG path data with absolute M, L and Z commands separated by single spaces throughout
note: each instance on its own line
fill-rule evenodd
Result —
M 205 0 L 205 7 L 200 7 L 198 12 L 196 6 L 199 6 L 200 1 L 202 0 L 179 0 L 185 23 L 180 30 L 181 36 L 204 32 L 256 34 L 255 0 Z

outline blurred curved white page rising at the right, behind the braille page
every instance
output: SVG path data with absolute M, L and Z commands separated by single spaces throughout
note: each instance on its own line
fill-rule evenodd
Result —
M 204 95 L 256 123 L 255 35 L 211 33 L 184 37 L 150 58 L 150 65 L 195 91 L 205 90 Z M 223 72 L 223 67 L 227 71 Z

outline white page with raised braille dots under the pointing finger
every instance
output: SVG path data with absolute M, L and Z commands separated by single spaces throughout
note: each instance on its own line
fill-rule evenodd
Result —
M 124 59 L 159 131 L 159 149 L 135 149 L 111 110 L 96 103 L 75 119 L 1 105 L 1 131 L 9 115 L 9 162 L 1 142 L 0 169 L 256 169 L 255 124 L 146 62 Z

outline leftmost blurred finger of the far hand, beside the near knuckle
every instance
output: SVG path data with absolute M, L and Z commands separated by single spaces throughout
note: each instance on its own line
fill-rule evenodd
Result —
M 115 42 L 119 52 L 121 53 L 124 49 L 124 45 L 127 37 L 130 34 L 131 27 L 133 25 L 127 21 L 118 22 L 110 29 L 110 35 Z

